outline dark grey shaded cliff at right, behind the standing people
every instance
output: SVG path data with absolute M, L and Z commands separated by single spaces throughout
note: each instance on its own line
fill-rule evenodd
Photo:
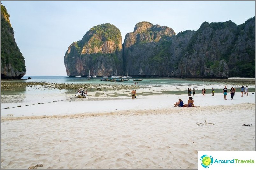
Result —
M 248 32 L 250 33 L 247 34 Z M 244 63 L 246 60 L 254 60 L 254 71 L 253 67 L 249 69 L 250 74 L 244 74 L 244 66 L 248 65 Z M 183 51 L 174 75 L 215 78 L 255 77 L 255 17 L 240 26 L 231 21 L 211 24 L 204 22 Z

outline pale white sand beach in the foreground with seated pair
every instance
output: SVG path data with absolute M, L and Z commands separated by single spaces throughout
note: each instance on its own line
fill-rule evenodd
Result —
M 1 109 L 1 169 L 197 169 L 197 151 L 255 151 L 252 92 L 199 94 L 193 108 L 172 107 L 187 94 L 137 93 Z M 205 120 L 214 125 L 196 124 Z

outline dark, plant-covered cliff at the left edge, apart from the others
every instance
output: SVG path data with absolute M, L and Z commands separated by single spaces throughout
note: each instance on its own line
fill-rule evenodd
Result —
M 1 4 L 1 79 L 20 79 L 26 73 L 25 60 L 15 42 L 9 17 Z

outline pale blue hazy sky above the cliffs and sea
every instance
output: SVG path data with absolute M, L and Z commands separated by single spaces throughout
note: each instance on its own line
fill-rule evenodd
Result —
M 25 76 L 67 76 L 64 56 L 90 28 L 110 23 L 122 41 L 138 22 L 168 26 L 175 33 L 203 22 L 255 16 L 255 1 L 1 1 L 10 14 L 15 41 L 24 56 Z

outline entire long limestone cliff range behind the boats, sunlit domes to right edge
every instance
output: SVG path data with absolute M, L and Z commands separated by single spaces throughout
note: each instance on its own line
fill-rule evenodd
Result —
M 123 46 L 117 28 L 110 33 L 101 27 L 68 47 L 68 75 L 82 70 L 86 76 L 89 69 L 97 75 L 112 75 L 117 69 L 122 75 L 124 69 L 132 76 L 255 77 L 255 17 L 238 26 L 232 21 L 204 22 L 197 31 L 177 35 L 172 28 L 139 22 Z M 109 35 L 116 38 L 106 38 Z

